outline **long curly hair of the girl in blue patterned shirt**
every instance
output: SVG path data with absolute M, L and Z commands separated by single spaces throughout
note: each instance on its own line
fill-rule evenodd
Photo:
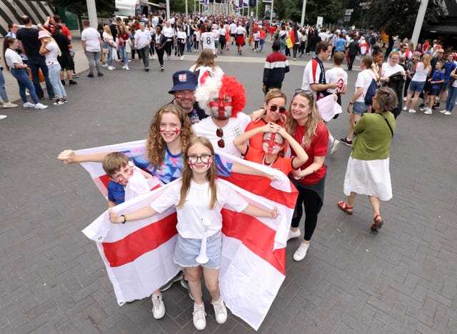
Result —
M 194 136 L 191 121 L 183 108 L 174 103 L 169 103 L 166 106 L 161 107 L 152 118 L 151 126 L 149 126 L 148 138 L 146 140 L 146 158 L 149 163 L 151 163 L 151 166 L 156 166 L 156 168 L 160 168 L 165 159 L 166 143 L 164 138 L 160 135 L 160 123 L 164 113 L 174 113 L 178 116 L 179 122 L 181 123 L 179 136 L 183 150 L 186 148 L 189 140 Z

